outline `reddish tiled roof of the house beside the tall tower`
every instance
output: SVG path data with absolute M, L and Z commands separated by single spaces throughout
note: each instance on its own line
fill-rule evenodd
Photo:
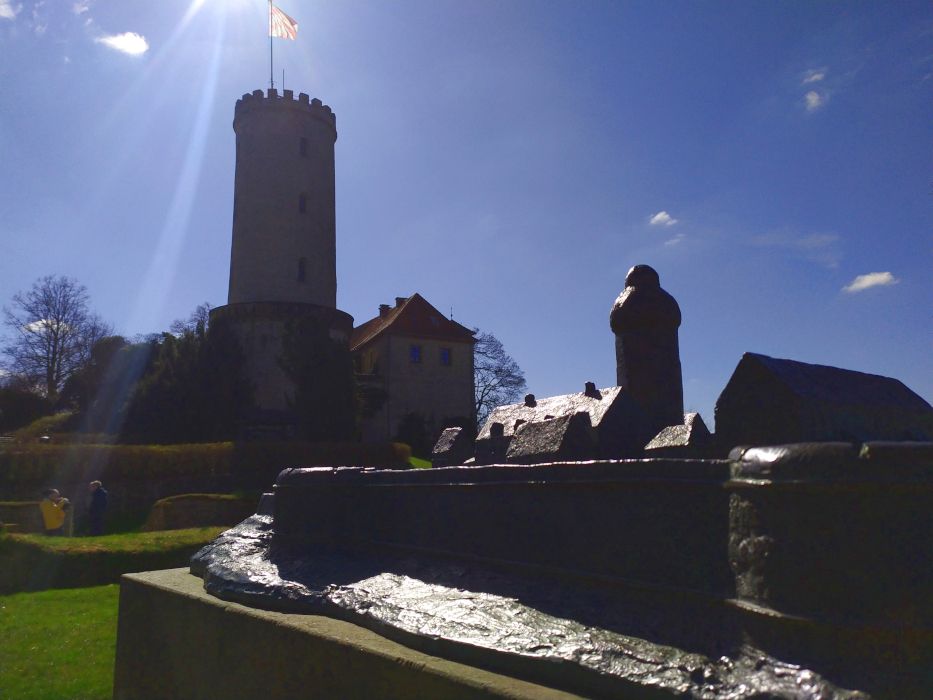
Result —
M 350 350 L 359 350 L 384 333 L 461 343 L 476 342 L 473 331 L 446 318 L 417 292 L 407 299 L 399 300 L 385 314 L 380 313 L 354 328 L 350 336 Z

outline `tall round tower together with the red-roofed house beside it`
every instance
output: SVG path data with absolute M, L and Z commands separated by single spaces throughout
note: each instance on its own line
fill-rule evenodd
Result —
M 282 367 L 283 343 L 298 324 L 323 326 L 350 353 L 369 411 L 364 440 L 389 440 L 417 416 L 430 436 L 473 408 L 473 333 L 420 295 L 358 328 L 337 309 L 334 144 L 330 107 L 291 90 L 243 95 L 234 110 L 236 175 L 227 323 L 255 388 L 250 431 L 286 434 L 294 425 L 295 386 Z M 317 337 L 321 337 L 318 335 Z M 323 370 L 326 371 L 326 370 Z M 322 378 L 326 379 L 326 378 Z

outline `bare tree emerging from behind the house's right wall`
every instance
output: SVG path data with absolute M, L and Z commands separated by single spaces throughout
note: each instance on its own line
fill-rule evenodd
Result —
M 479 429 L 497 406 L 514 403 L 525 391 L 525 373 L 492 333 L 476 333 L 473 346 L 473 418 Z

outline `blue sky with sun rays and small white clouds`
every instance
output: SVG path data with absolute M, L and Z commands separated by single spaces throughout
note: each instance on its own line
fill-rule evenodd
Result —
M 338 306 L 420 292 L 538 395 L 615 384 L 647 263 L 712 425 L 745 351 L 933 400 L 928 2 L 278 5 L 337 114 Z M 226 303 L 233 106 L 263 0 L 0 0 L 0 302 L 79 279 L 128 336 Z

